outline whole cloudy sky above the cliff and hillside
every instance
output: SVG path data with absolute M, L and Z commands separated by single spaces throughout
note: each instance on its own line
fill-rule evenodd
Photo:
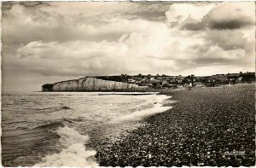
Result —
M 3 91 L 89 75 L 255 71 L 255 4 L 2 4 Z

